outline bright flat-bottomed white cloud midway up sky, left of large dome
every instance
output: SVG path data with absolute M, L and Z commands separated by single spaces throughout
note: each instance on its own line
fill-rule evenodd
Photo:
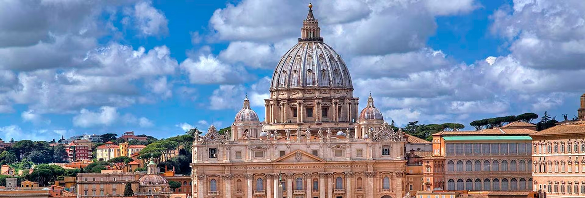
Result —
M 243 67 L 224 64 L 211 54 L 198 60 L 187 58 L 180 67 L 192 84 L 238 84 L 249 79 Z

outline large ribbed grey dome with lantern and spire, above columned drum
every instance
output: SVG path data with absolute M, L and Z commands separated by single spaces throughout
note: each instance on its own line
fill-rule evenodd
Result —
M 341 56 L 320 37 L 318 20 L 309 7 L 301 37 L 278 62 L 270 90 L 287 88 L 353 89 L 352 78 Z

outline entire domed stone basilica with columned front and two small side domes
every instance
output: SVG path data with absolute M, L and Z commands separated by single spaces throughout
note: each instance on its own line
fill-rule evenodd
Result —
M 402 198 L 405 136 L 374 106 L 358 109 L 345 62 L 309 4 L 298 43 L 274 70 L 266 120 L 243 102 L 232 130 L 192 145 L 194 197 Z

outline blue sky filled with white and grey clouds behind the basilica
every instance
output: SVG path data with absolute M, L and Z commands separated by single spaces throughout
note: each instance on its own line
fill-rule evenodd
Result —
M 230 126 L 268 84 L 307 5 L 360 107 L 399 126 L 545 111 L 585 92 L 585 1 L 7 0 L 0 4 L 0 138 Z

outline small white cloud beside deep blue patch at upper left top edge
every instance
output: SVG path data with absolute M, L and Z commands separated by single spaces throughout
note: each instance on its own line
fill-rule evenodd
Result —
M 132 11 L 136 29 L 145 36 L 168 34 L 168 20 L 150 1 L 138 2 Z

